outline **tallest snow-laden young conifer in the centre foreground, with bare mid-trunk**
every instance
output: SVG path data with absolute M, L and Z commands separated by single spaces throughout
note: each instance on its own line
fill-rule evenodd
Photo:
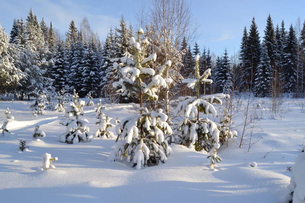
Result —
M 130 38 L 132 57 L 121 58 L 126 66 L 119 68 L 118 64 L 114 63 L 121 72 L 121 78 L 113 86 L 121 85 L 124 90 L 132 90 L 132 93 L 140 100 L 140 114 L 125 118 L 116 126 L 118 143 L 109 156 L 111 161 L 122 160 L 126 157 L 127 162 L 133 161 L 137 170 L 142 166 L 155 165 L 167 160 L 171 149 L 164 139 L 164 134 L 172 133 L 166 122 L 168 117 L 162 113 L 162 109 L 149 112 L 143 107 L 143 101 L 149 98 L 157 100 L 158 96 L 155 93 L 159 86 L 167 85 L 159 74 L 152 78 L 151 83 L 145 84 L 145 78 L 155 74 L 152 68 L 147 67 L 156 61 L 156 54 L 146 58 L 149 40 L 143 39 L 143 33 L 143 30 L 139 28 L 137 41 L 134 37 Z

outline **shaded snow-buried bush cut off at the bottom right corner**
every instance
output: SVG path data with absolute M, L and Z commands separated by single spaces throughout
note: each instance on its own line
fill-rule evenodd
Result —
M 305 203 L 305 152 L 296 157 L 287 191 L 283 202 Z

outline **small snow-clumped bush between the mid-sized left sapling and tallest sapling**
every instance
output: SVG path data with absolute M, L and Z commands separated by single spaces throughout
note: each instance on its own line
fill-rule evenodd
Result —
M 113 135 L 113 132 L 107 131 L 108 128 L 111 128 L 113 125 L 110 123 L 112 118 L 109 118 L 108 115 L 101 114 L 99 116 L 99 122 L 96 122 L 96 124 L 99 124 L 99 129 L 95 132 L 95 137 L 101 137 L 101 138 L 115 138 Z

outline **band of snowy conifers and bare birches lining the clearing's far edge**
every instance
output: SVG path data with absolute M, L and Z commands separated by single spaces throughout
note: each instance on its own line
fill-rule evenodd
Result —
M 269 14 L 261 40 L 253 17 L 249 32 L 244 28 L 238 53 L 229 57 L 225 48 L 224 54 L 216 57 L 209 48 L 199 49 L 192 11 L 187 3 L 179 6 L 184 10 L 177 11 L 181 18 L 154 12 L 156 5 L 148 9 L 147 18 L 136 16 L 149 42 L 146 55 L 157 54 L 150 68 L 158 74 L 161 66 L 171 60 L 173 83 L 169 98 L 196 94 L 181 79 L 194 76 L 197 54 L 200 75 L 210 68 L 213 80 L 202 86 L 201 94 L 249 92 L 257 97 L 277 97 L 288 93 L 304 97 L 305 21 L 303 28 L 299 22 L 299 27 L 291 24 L 286 30 L 284 21 L 274 26 Z M 29 99 L 36 88 L 47 94 L 62 89 L 72 93 L 75 89 L 80 97 L 91 92 L 94 98 L 104 97 L 111 103 L 139 102 L 122 87 L 113 87 L 121 74 L 113 63 L 123 67 L 122 57 L 132 59 L 130 38 L 136 37 L 134 30 L 138 28 L 127 25 L 122 15 L 119 26 L 111 28 L 101 43 L 86 17 L 80 25 L 77 28 L 72 20 L 67 33 L 60 35 L 52 22 L 47 26 L 43 18 L 38 21 L 32 9 L 25 20 L 13 20 L 9 34 L 0 24 L 0 93 L 14 93 L 23 100 L 25 96 Z M 161 99 L 165 96 L 158 94 Z

